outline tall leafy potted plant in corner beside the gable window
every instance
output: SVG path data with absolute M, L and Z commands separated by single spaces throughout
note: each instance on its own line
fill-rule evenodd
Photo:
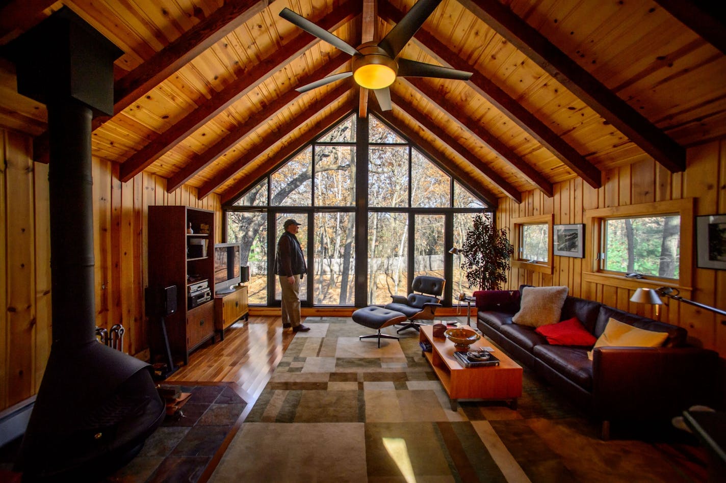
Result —
M 473 227 L 459 250 L 464 256 L 461 267 L 469 286 L 480 290 L 497 290 L 507 283 L 509 260 L 514 247 L 505 228 L 497 229 L 489 216 L 476 215 Z

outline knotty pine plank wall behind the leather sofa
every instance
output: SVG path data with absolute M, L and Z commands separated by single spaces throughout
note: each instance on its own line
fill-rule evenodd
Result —
M 584 223 L 584 211 L 593 208 L 635 205 L 669 199 L 696 198 L 695 215 L 726 213 L 726 140 L 688 149 L 684 173 L 670 173 L 653 160 L 622 165 L 603 173 L 603 187 L 594 189 L 582 179 L 556 183 L 554 197 L 528 191 L 521 205 L 499 199 L 497 223 L 513 233 L 512 218 L 553 213 L 555 224 Z M 587 245 L 586 245 L 587 246 Z M 690 300 L 726 310 L 726 271 L 696 268 Z M 566 285 L 576 297 L 597 300 L 622 310 L 654 317 L 653 309 L 629 301 L 633 290 L 584 281 L 584 259 L 555 256 L 552 274 L 513 268 L 507 285 Z M 669 300 L 661 310 L 661 320 L 688 329 L 694 342 L 726 357 L 726 318 L 710 310 Z

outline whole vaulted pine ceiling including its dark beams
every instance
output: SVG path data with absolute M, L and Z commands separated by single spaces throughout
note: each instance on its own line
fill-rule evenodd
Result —
M 66 6 L 125 53 L 115 115 L 92 149 L 229 201 L 351 110 L 375 112 L 493 203 L 647 157 L 686 167 L 685 148 L 726 135 L 726 25 L 686 0 L 444 0 L 401 57 L 473 72 L 398 78 L 393 110 L 351 79 L 351 57 L 278 14 L 284 7 L 351 45 L 385 36 L 415 0 L 11 0 L 0 45 Z M 363 93 L 365 94 L 365 93 Z M 0 62 L 0 125 L 34 137 L 46 110 L 17 94 Z

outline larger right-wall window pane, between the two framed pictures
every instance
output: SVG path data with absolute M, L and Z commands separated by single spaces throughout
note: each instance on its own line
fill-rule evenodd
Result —
M 678 278 L 680 215 L 603 221 L 606 271 Z

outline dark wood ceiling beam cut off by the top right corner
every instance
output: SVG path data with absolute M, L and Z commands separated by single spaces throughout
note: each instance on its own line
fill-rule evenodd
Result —
M 726 22 L 723 14 L 716 12 L 723 4 L 707 0 L 656 0 L 656 3 L 726 54 Z

